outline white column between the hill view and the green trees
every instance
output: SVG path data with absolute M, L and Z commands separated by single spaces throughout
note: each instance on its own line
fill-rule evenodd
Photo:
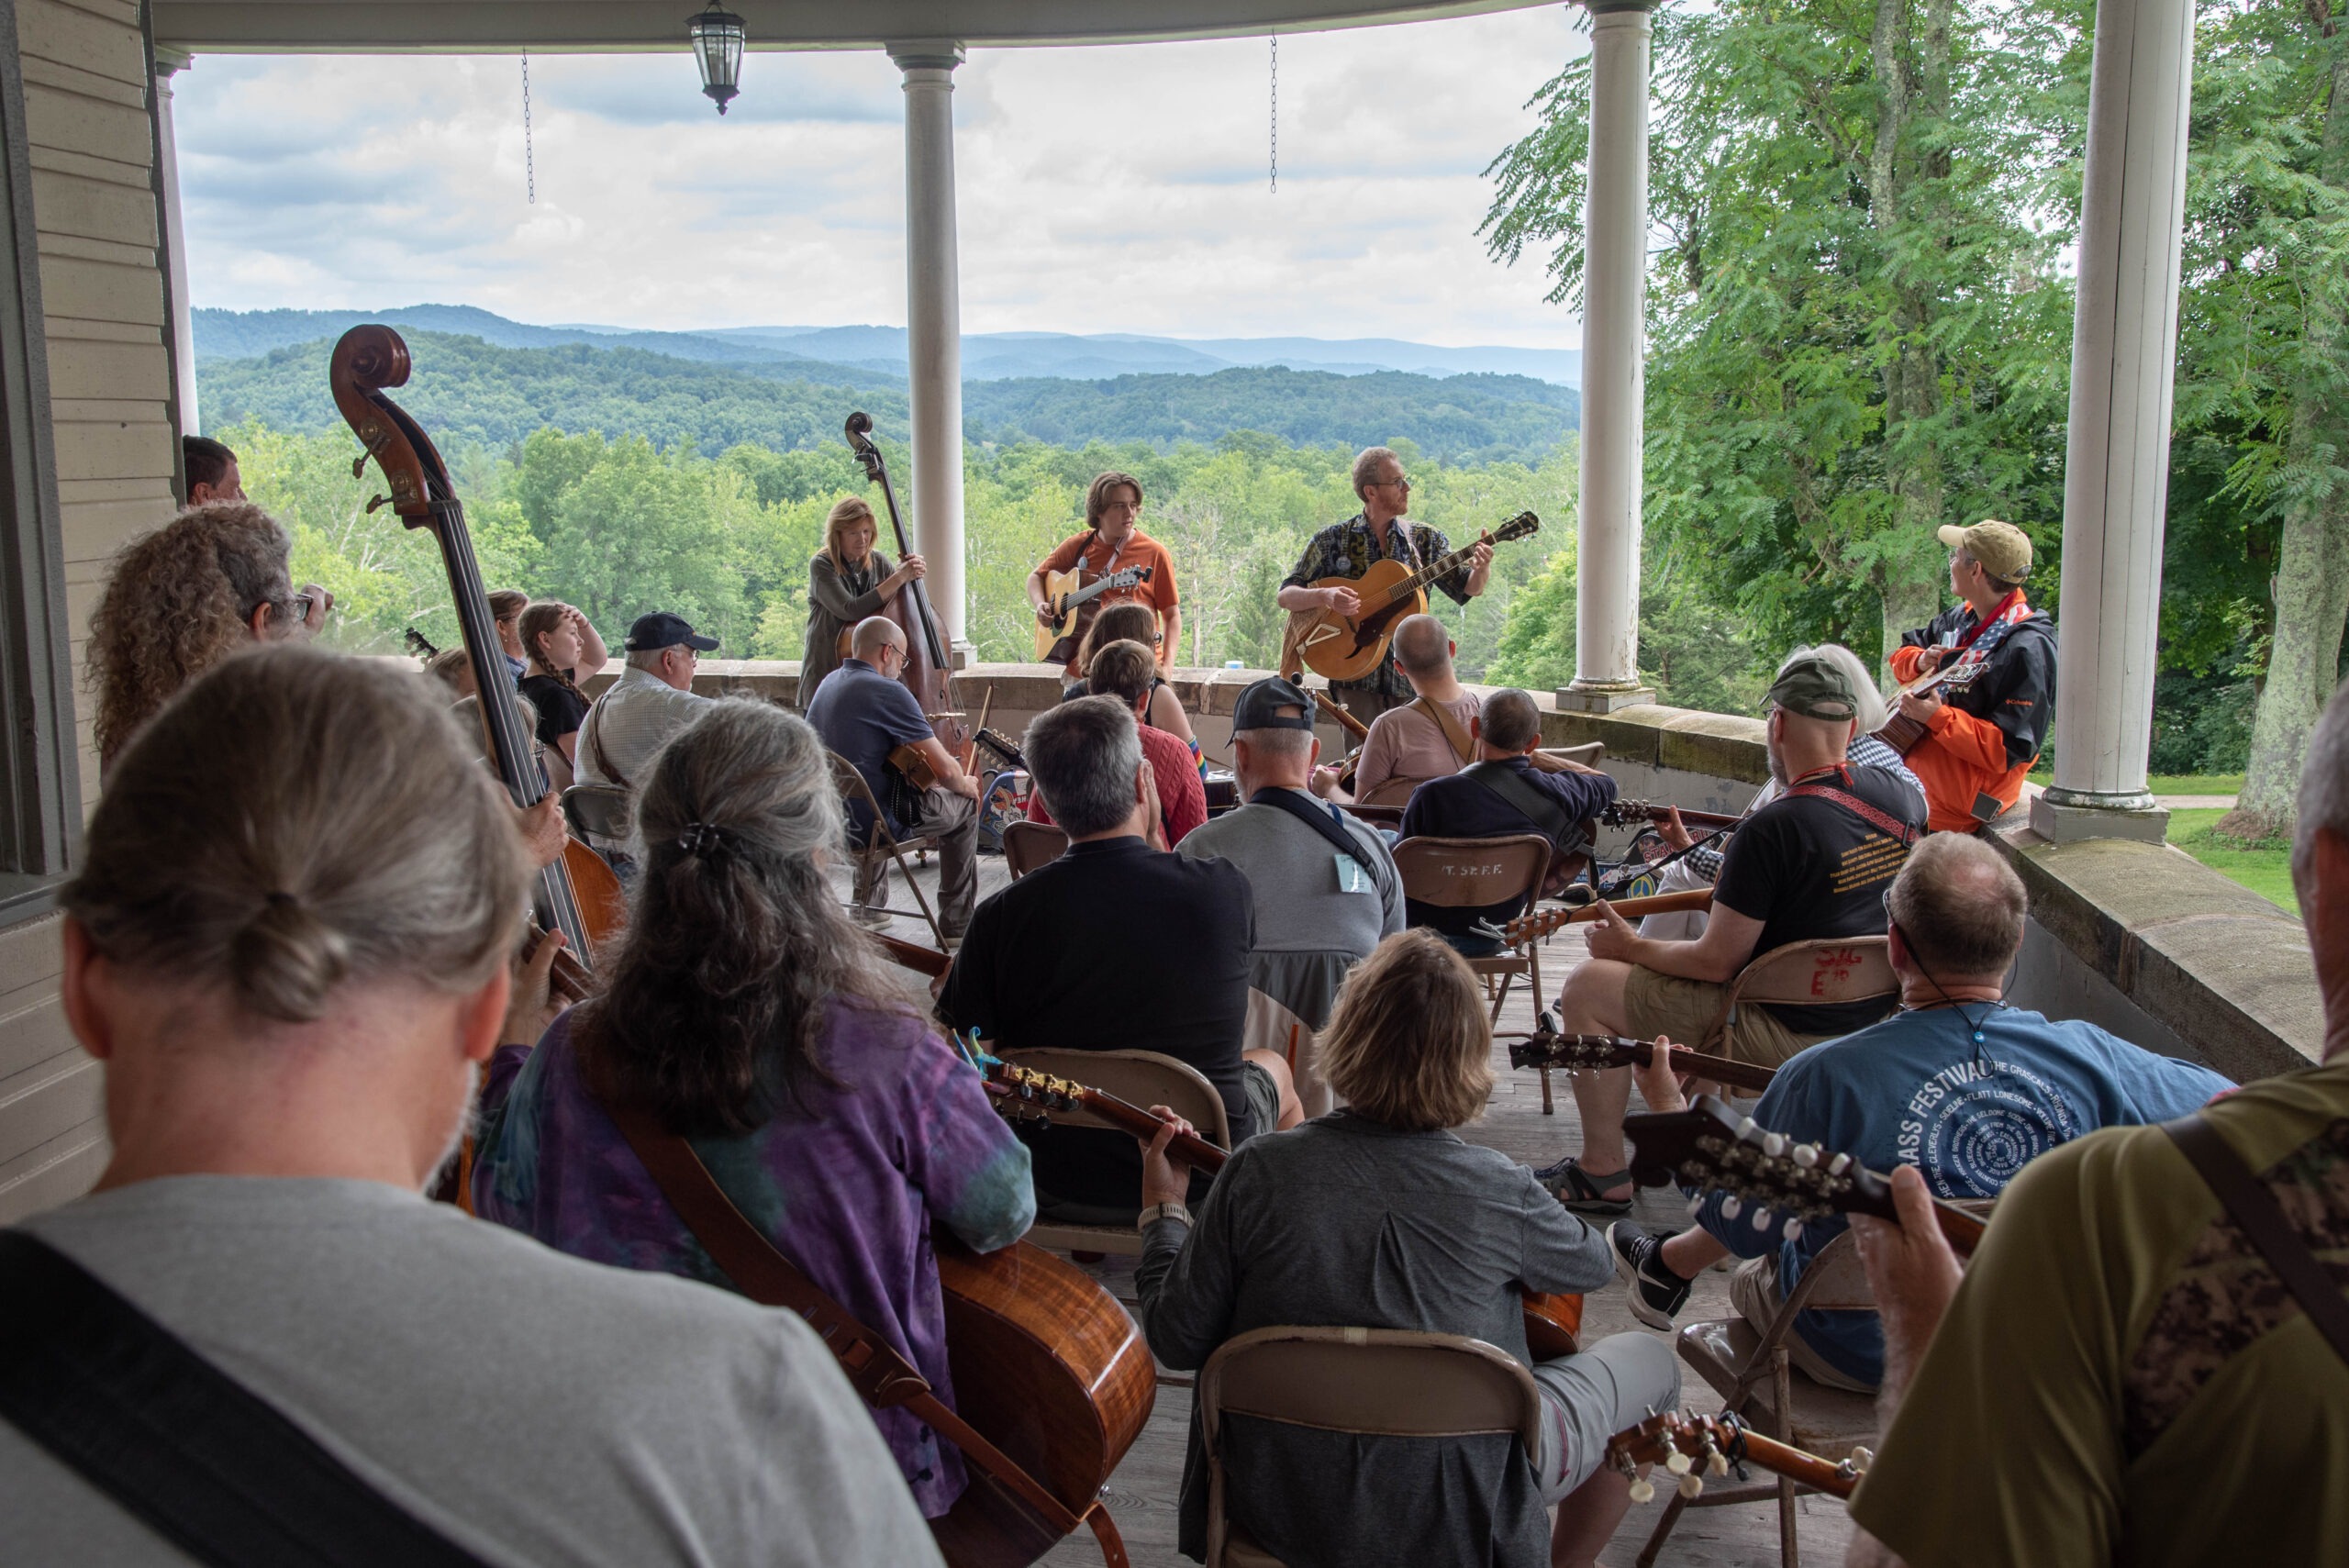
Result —
M 1647 420 L 1647 0 L 1590 5 L 1583 211 L 1583 437 L 1574 683 L 1557 707 L 1654 702 L 1640 685 L 1640 462 Z

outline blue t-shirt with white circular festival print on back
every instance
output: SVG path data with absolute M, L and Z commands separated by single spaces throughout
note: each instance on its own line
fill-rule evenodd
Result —
M 1983 1042 L 1973 1042 L 1980 1021 Z M 1872 1171 L 1914 1164 L 1933 1197 L 1997 1197 L 2025 1164 L 2098 1127 L 2142 1127 L 2201 1110 L 2234 1084 L 2189 1061 L 2159 1056 L 2095 1023 L 2053 1023 L 2020 1007 L 1900 1012 L 1797 1054 L 1755 1106 L 1755 1122 L 1799 1143 L 1839 1150 Z M 1842 1216 L 1806 1223 L 1792 1242 L 1722 1218 L 1705 1197 L 1698 1223 L 1741 1258 L 1778 1249 L 1778 1284 L 1844 1232 Z M 1884 1326 L 1875 1312 L 1804 1312 L 1804 1343 L 1846 1378 L 1884 1380 Z

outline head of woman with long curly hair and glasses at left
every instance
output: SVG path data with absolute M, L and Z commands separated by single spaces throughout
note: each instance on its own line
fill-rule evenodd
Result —
M 291 542 L 261 507 L 188 507 L 115 556 L 89 617 L 99 768 L 183 685 L 254 643 L 317 636 L 334 594 L 294 592 Z

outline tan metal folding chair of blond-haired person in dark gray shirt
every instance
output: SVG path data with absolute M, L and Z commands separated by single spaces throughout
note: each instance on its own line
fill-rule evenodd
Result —
M 1252 1329 L 1207 1357 L 1196 1397 L 1207 1446 L 1207 1568 L 1280 1568 L 1226 1514 L 1226 1415 L 1365 1437 L 1510 1432 L 1527 1455 L 1541 1451 L 1534 1376 L 1506 1350 L 1456 1333 Z

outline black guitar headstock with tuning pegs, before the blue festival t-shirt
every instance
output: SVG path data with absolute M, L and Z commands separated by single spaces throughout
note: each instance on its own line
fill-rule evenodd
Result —
M 1689 1110 L 1626 1117 L 1623 1136 L 1633 1181 L 1727 1192 L 1722 1218 L 1745 1218 L 1762 1235 L 1792 1242 L 1830 1214 L 1896 1218 L 1891 1188 L 1851 1155 L 1757 1127 L 1712 1094 Z

